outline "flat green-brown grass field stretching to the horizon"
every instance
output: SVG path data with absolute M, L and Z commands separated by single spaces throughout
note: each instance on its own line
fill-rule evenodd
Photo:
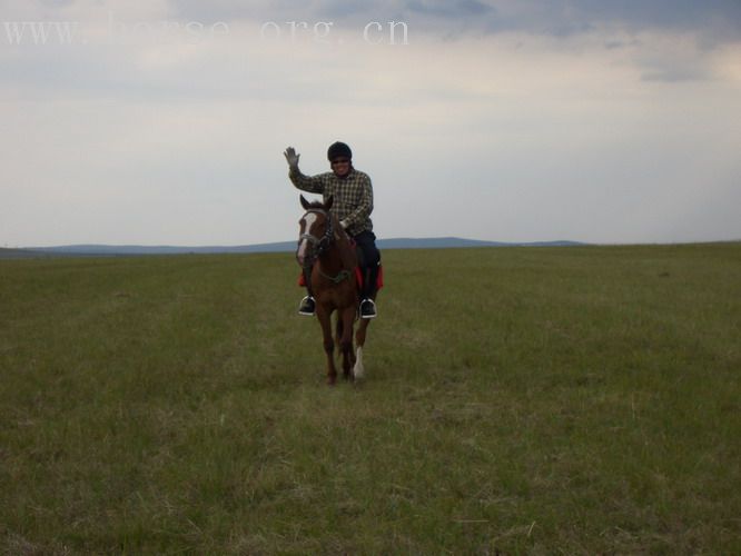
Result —
M 741 245 L 0 261 L 3 554 L 739 554 Z

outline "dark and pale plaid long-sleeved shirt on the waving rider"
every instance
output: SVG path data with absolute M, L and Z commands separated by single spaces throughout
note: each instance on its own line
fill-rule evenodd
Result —
M 332 212 L 338 220 L 345 220 L 350 236 L 373 230 L 373 186 L 367 173 L 353 168 L 345 178 L 338 178 L 334 172 L 304 176 L 300 170 L 292 170 L 288 177 L 298 189 L 322 193 L 324 202 L 332 197 Z

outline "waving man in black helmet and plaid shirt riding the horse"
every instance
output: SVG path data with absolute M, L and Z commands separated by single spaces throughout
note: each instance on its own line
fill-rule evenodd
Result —
M 293 147 L 284 152 L 288 167 L 288 177 L 296 188 L 312 193 L 322 193 L 324 201 L 333 199 L 332 212 L 339 225 L 355 240 L 360 250 L 359 266 L 363 276 L 360 291 L 360 317 L 376 316 L 376 282 L 381 254 L 376 248 L 370 212 L 373 211 L 373 186 L 367 173 L 353 168 L 353 151 L 344 142 L 335 142 L 327 150 L 332 171 L 317 176 L 305 176 L 298 169 L 298 158 Z M 298 308 L 300 315 L 314 315 L 316 302 L 310 281 L 306 284 L 307 296 Z

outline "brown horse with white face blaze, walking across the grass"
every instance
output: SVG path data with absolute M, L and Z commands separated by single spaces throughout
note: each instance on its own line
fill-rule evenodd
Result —
M 332 197 L 326 203 L 309 203 L 304 196 L 300 196 L 300 201 L 306 214 L 298 222 L 300 232 L 296 260 L 316 301 L 316 316 L 322 325 L 327 355 L 327 379 L 330 385 L 337 380 L 335 341 L 343 357 L 343 376 L 359 379 L 364 374 L 363 346 L 369 319 L 360 320 L 355 335 L 356 351 L 353 349 L 353 325 L 357 316 L 359 287 L 355 275 L 355 248 L 337 217 L 329 211 Z M 335 339 L 332 337 L 334 311 L 337 311 Z

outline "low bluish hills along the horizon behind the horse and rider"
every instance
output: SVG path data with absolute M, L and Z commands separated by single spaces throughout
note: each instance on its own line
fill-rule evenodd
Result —
M 379 249 L 439 249 L 465 247 L 557 247 L 584 245 L 575 241 L 537 241 L 537 242 L 501 242 L 481 241 L 463 238 L 391 238 L 377 241 Z M 68 245 L 55 247 L 30 247 L 24 249 L 0 249 L 0 258 L 21 258 L 39 256 L 96 256 L 115 257 L 131 255 L 204 255 L 204 254 L 250 254 L 250 252 L 292 252 L 296 249 L 296 241 L 278 241 L 273 244 L 256 244 L 245 246 L 111 246 L 111 245 Z

